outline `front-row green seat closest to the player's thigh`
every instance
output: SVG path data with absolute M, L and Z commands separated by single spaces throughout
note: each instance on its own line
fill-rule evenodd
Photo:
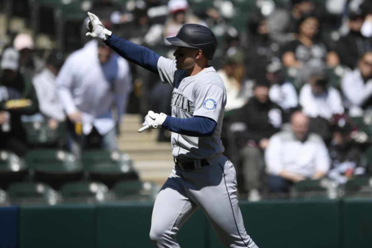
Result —
M 159 187 L 149 181 L 138 180 L 121 181 L 113 187 L 115 197 L 120 200 L 155 200 Z

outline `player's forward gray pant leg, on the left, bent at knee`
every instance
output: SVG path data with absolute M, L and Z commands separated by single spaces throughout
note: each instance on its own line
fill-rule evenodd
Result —
M 156 248 L 179 248 L 176 234 L 198 208 L 185 194 L 182 178 L 172 171 L 156 197 L 150 239 Z

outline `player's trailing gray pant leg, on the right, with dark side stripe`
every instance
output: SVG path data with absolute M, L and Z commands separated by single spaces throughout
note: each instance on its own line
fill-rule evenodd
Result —
M 258 248 L 247 234 L 237 200 L 234 165 L 226 157 L 220 163 L 183 173 L 186 191 L 205 213 L 225 247 Z

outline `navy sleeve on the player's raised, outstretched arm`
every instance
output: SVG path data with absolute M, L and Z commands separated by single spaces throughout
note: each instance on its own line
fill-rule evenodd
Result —
M 104 42 L 126 60 L 138 64 L 153 73 L 159 74 L 158 60 L 160 55 L 155 53 L 153 50 L 127 41 L 126 39 L 115 36 L 114 34 L 110 35 L 110 37 Z

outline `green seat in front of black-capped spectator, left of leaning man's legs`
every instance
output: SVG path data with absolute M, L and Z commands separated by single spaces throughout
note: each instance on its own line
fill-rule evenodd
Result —
M 62 122 L 56 130 L 50 130 L 46 122 L 24 122 L 27 142 L 31 145 L 58 145 L 63 146 L 66 136 L 66 123 Z

